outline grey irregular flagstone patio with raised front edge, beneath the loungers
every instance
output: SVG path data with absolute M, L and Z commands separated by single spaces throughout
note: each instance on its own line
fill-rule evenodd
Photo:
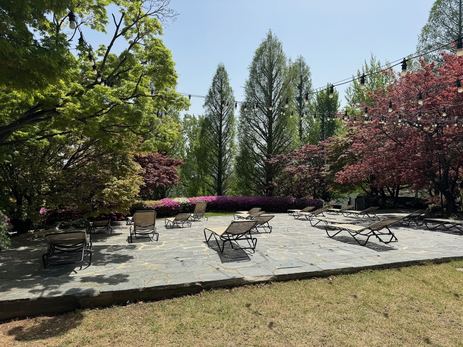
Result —
M 347 233 L 329 238 L 323 227 L 287 214 L 275 214 L 271 234 L 256 236 L 255 252 L 227 244 L 221 254 L 215 241 L 206 244 L 203 229 L 228 225 L 232 219 L 210 217 L 185 229 L 167 229 L 159 220 L 158 242 L 144 239 L 132 244 L 127 242 L 129 226 L 114 223 L 112 234 L 93 235 L 92 265 L 85 268 L 84 264 L 82 270 L 80 266 L 44 270 L 44 239 L 14 239 L 12 249 L 0 252 L 0 320 L 172 297 L 217 286 L 463 257 L 463 235 L 445 229 L 399 226 L 392 228 L 399 242 L 384 245 L 371 238 L 360 246 Z M 365 218 L 361 224 L 374 221 Z

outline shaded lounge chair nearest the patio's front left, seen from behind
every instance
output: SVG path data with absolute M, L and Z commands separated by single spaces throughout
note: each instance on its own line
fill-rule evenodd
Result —
M 47 234 L 45 240 L 48 242 L 47 253 L 42 255 L 44 267 L 54 265 L 81 264 L 84 261 L 85 253 L 90 255 L 88 265 L 92 263 L 92 235 L 85 231 L 70 231 L 66 233 Z M 80 253 L 81 260 L 52 263 L 51 258 L 60 254 Z

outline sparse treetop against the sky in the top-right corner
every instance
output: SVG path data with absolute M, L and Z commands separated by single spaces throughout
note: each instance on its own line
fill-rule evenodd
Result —
M 426 61 L 442 62 L 440 53 L 454 53 L 455 46 L 449 44 L 462 34 L 463 0 L 436 0 L 429 11 L 428 21 L 418 36 L 416 50 L 424 53 Z

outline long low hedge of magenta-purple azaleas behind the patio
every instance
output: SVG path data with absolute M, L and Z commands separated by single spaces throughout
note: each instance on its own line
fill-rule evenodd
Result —
M 173 216 L 178 213 L 193 212 L 198 201 L 206 201 L 206 211 L 247 211 L 253 207 L 260 207 L 266 212 L 286 212 L 291 209 L 302 209 L 307 206 L 321 208 L 323 200 L 296 199 L 280 197 L 223 197 L 207 196 L 194 198 L 165 198 L 155 201 L 139 201 L 130 208 L 135 211 L 154 210 L 158 217 Z

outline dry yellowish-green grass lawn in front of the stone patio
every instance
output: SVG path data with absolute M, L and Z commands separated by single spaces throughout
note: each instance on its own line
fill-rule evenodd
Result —
M 463 346 L 463 261 L 0 324 L 0 346 Z

